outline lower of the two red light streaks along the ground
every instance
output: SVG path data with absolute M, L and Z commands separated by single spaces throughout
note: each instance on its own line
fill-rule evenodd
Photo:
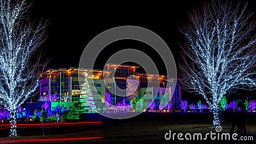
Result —
M 31 142 L 45 142 L 45 141 L 77 141 L 77 140 L 97 140 L 97 139 L 102 139 L 102 137 L 4 140 L 4 141 L 1 141 L 1 143 L 31 143 Z

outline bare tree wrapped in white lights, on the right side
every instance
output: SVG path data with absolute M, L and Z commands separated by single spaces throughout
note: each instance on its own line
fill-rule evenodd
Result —
M 180 29 L 186 36 L 181 83 L 188 92 L 204 97 L 213 109 L 214 125 L 220 125 L 218 107 L 223 95 L 255 85 L 255 22 L 250 22 L 252 13 L 246 14 L 246 5 L 204 3 L 189 13 L 189 23 Z

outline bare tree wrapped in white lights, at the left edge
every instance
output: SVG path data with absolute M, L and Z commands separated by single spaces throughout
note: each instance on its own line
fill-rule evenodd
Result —
M 35 63 L 31 56 L 46 38 L 46 23 L 29 22 L 24 0 L 1 0 L 0 6 L 0 101 L 10 111 L 10 136 L 16 136 L 15 111 L 33 96 L 44 68 L 40 55 Z

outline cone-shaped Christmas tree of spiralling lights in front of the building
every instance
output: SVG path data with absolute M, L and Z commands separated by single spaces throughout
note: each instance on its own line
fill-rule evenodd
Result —
M 86 72 L 84 83 L 82 85 L 83 86 L 82 92 L 81 92 L 82 95 L 80 95 L 80 99 L 79 99 L 79 101 L 81 102 L 81 109 L 83 109 L 84 113 L 97 113 L 87 77 L 88 77 L 88 73 Z

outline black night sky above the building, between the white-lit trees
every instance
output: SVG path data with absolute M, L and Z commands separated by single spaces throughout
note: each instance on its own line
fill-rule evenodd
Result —
M 178 31 L 179 26 L 188 20 L 186 13 L 189 8 L 200 2 L 202 1 L 88 3 L 81 0 L 36 0 L 33 1 L 30 13 L 35 19 L 49 20 L 48 38 L 42 45 L 44 58 L 51 58 L 47 68 L 78 67 L 81 53 L 93 37 L 110 28 L 127 25 L 147 28 L 161 36 L 177 61 L 180 52 L 178 42 L 184 40 Z M 255 2 L 249 1 L 249 8 L 256 10 Z M 159 74 L 165 73 L 163 61 L 156 56 L 152 47 L 135 40 L 120 40 L 109 44 L 100 52 L 95 68 L 103 68 L 109 56 L 127 48 L 145 52 L 156 62 Z M 197 98 L 200 99 L 199 96 Z

